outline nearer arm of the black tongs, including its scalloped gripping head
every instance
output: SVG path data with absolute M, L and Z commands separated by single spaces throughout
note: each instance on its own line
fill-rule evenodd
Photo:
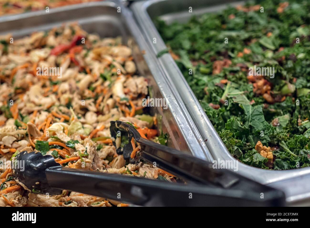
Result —
M 24 165 L 19 165 L 22 163 Z M 17 154 L 13 164 L 15 181 L 33 193 L 58 195 L 66 189 L 144 206 L 280 206 L 283 203 L 282 192 L 266 186 L 251 186 L 250 182 L 246 182 L 248 186 L 244 189 L 170 183 L 64 168 L 51 155 L 27 151 Z

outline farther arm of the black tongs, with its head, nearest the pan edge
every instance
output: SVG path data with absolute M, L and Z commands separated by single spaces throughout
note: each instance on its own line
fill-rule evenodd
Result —
M 222 187 L 232 186 L 238 181 L 236 176 L 231 175 L 227 170 L 215 170 L 212 163 L 205 160 L 182 153 L 165 145 L 155 143 L 144 139 L 134 126 L 122 121 L 111 121 L 111 136 L 126 137 L 131 140 L 133 137 L 141 146 L 139 159 L 156 164 L 156 167 L 162 168 L 167 172 L 174 174 L 186 181 L 194 181 L 204 184 L 220 185 Z M 116 141 L 116 140 L 115 140 Z M 117 148 L 117 153 L 123 154 L 124 158 L 129 158 L 133 148 L 131 143 L 124 147 L 117 147 L 115 141 L 113 144 Z M 135 161 L 130 159 L 131 163 Z M 223 175 L 225 173 L 226 175 Z

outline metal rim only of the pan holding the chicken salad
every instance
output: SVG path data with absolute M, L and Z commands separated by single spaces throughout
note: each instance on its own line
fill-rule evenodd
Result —
M 205 159 L 208 161 L 212 160 L 212 156 L 207 148 L 204 148 L 201 146 L 200 141 L 202 141 L 202 137 L 199 135 L 199 131 L 189 117 L 189 113 L 187 112 L 187 109 L 185 108 L 182 99 L 179 97 L 179 94 L 172 88 L 170 88 L 168 83 L 166 82 L 166 78 L 164 77 L 164 74 L 162 71 L 159 71 L 159 66 L 157 66 L 156 59 L 154 59 L 153 56 L 150 55 L 151 51 L 148 48 L 148 45 L 146 41 L 143 38 L 143 35 L 141 31 L 139 30 L 138 25 L 136 24 L 132 12 L 126 8 L 123 5 L 124 2 L 119 2 L 117 0 L 109 0 L 109 1 L 102 1 L 102 2 L 86 2 L 81 4 L 73 4 L 68 5 L 64 7 L 56 7 L 50 9 L 49 14 L 57 13 L 57 12 L 65 12 L 65 11 L 71 11 L 75 9 L 81 9 L 84 7 L 94 7 L 94 6 L 104 6 L 104 7 L 121 7 L 121 13 L 126 17 L 126 20 L 124 23 L 126 23 L 127 28 L 132 32 L 132 36 L 135 38 L 135 41 L 140 48 L 140 50 L 145 50 L 146 53 L 143 55 L 144 60 L 146 64 L 148 65 L 148 68 L 150 72 L 152 73 L 152 76 L 155 80 L 155 82 L 158 85 L 158 88 L 164 98 L 166 98 L 168 106 L 170 108 L 170 113 L 172 117 L 175 120 L 176 126 L 180 130 L 180 133 L 184 137 L 184 140 L 189 148 L 189 152 L 193 154 L 194 156 L 200 157 L 201 159 Z M 0 23 L 5 23 L 8 21 L 14 21 L 14 20 L 20 20 L 20 19 L 27 19 L 34 16 L 45 16 L 47 13 L 45 10 L 40 11 L 33 11 L 33 12 L 27 12 L 22 14 L 14 14 L 14 15 L 7 15 L 0 17 Z M 101 15 L 100 15 L 101 16 Z M 95 16 L 94 16 L 95 17 Z M 76 20 L 79 20 L 81 18 L 78 18 Z M 69 19 L 70 20 L 70 19 Z M 51 22 L 52 23 L 52 22 Z M 30 28 L 31 26 L 29 26 Z M 34 27 L 38 27 L 38 25 L 35 25 Z M 133 32 L 134 31 L 134 32 Z M 159 85 L 161 83 L 161 85 Z M 171 94 L 176 94 L 176 96 L 171 96 Z M 184 107 L 183 107 L 183 106 Z M 183 124 L 180 124 L 183 123 Z M 191 132 L 193 137 L 188 138 L 186 135 Z

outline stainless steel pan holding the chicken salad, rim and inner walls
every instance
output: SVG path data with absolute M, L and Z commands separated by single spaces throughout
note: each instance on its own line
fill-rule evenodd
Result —
M 208 149 L 202 146 L 202 138 L 186 108 L 182 108 L 181 98 L 168 87 L 155 64 L 156 59 L 150 55 L 151 51 L 131 12 L 121 3 L 89 2 L 51 9 L 49 13 L 37 11 L 3 16 L 0 18 L 0 35 L 12 34 L 13 38 L 20 38 L 35 31 L 49 30 L 72 22 L 78 22 L 86 32 L 99 34 L 100 37 L 121 36 L 122 42 L 132 48 L 140 75 L 148 80 L 148 96 L 152 94 L 154 98 L 166 99 L 167 109 L 150 107 L 150 112 L 160 117 L 158 123 L 161 124 L 158 126 L 161 129 L 158 130 L 167 133 L 167 145 L 208 161 L 212 159 Z

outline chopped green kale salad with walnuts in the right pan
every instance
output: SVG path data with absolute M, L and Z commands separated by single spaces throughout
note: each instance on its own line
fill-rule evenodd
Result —
M 309 22 L 303 0 L 249 1 L 185 24 L 156 20 L 166 52 L 245 164 L 310 166 Z

